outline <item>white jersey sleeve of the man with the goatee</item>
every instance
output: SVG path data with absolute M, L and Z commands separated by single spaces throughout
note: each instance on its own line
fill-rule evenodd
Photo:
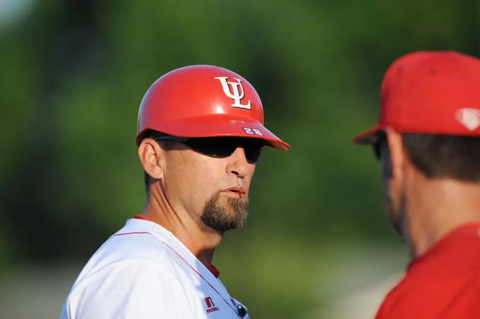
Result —
M 128 260 L 80 280 L 63 313 L 65 319 L 194 319 L 195 300 L 160 264 Z

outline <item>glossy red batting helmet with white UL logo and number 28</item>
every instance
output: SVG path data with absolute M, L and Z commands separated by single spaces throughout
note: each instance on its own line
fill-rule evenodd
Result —
M 168 72 L 145 93 L 138 113 L 137 146 L 147 130 L 179 137 L 240 136 L 290 146 L 264 127 L 262 101 L 239 74 L 193 65 Z

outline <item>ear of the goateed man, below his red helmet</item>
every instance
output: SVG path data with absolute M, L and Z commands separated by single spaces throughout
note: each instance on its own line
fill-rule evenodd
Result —
M 144 139 L 138 148 L 138 155 L 144 171 L 155 179 L 163 178 L 164 153 L 165 150 L 155 140 L 150 138 Z

